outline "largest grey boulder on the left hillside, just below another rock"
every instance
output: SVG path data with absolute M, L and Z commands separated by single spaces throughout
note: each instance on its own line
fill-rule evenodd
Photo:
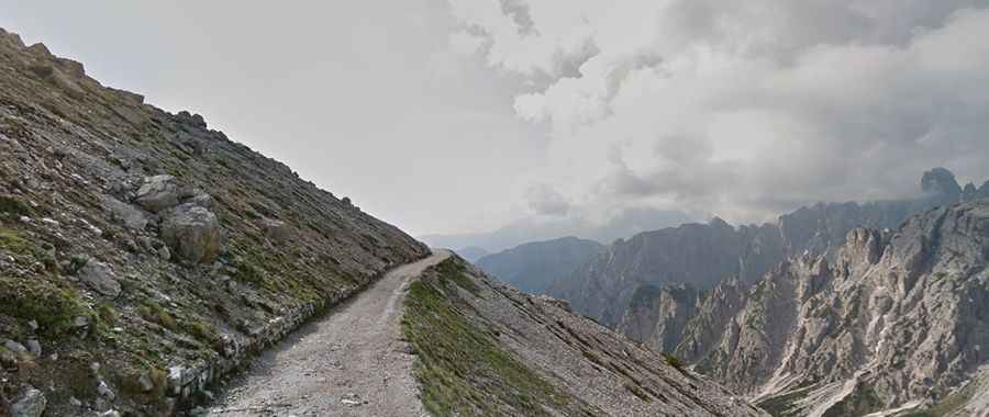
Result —
M 162 223 L 162 239 L 174 257 L 190 263 L 209 263 L 223 247 L 220 219 L 213 212 L 195 204 L 169 211 Z

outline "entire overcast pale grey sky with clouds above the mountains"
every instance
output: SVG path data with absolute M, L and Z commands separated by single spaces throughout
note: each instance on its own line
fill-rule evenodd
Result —
M 763 221 L 907 195 L 934 166 L 981 183 L 987 8 L 3 0 L 0 26 L 421 235 L 629 207 Z

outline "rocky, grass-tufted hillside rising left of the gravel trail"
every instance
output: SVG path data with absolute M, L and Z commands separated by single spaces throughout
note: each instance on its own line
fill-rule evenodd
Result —
M 427 248 L 0 31 L 0 415 L 169 415 Z

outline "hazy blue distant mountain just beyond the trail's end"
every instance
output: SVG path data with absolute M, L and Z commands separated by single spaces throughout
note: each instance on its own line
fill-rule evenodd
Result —
M 481 270 L 530 294 L 542 294 L 604 249 L 593 240 L 563 237 L 520 245 L 478 259 Z

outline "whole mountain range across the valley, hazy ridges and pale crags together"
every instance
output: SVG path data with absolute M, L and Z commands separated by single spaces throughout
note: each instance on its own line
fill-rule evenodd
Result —
M 977 415 L 989 404 L 986 199 L 989 182 L 963 188 L 936 168 L 913 199 L 819 203 L 760 226 L 715 217 L 620 239 L 576 269 L 502 274 L 523 289 L 555 277 L 546 291 L 576 312 L 773 415 Z M 532 273 L 554 244 L 492 257 Z

